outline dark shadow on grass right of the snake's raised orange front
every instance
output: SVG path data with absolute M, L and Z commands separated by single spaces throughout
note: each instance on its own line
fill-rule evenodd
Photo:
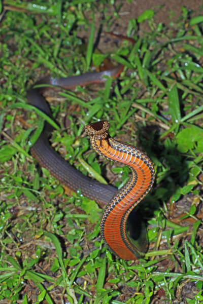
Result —
M 155 182 L 150 193 L 128 217 L 129 236 L 139 244 L 144 244 L 143 223 L 146 226 L 147 220 L 154 217 L 154 212 L 163 202 L 168 202 L 177 189 L 185 185 L 189 177 L 188 159 L 177 150 L 173 138 L 171 139 L 168 134 L 160 141 L 159 137 L 160 130 L 157 126 L 142 126 L 138 129 L 141 149 L 150 156 L 156 170 Z

